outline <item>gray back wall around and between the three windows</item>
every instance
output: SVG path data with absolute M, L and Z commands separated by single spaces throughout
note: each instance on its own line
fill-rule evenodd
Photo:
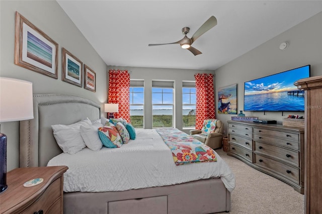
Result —
M 108 66 L 109 69 L 128 70 L 130 79 L 144 80 L 144 128 L 152 128 L 152 80 L 175 81 L 175 127 L 189 133 L 189 129 L 182 129 L 182 82 L 195 81 L 197 73 L 214 74 L 213 70 L 171 69 L 152 67 Z

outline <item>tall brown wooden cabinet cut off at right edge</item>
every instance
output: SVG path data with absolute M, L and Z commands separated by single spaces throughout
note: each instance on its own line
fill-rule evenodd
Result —
M 322 76 L 294 83 L 305 90 L 305 188 L 306 214 L 322 213 Z

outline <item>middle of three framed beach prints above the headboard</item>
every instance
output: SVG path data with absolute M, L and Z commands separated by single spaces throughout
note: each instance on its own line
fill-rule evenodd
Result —
M 62 48 L 62 81 L 83 87 L 83 62 Z

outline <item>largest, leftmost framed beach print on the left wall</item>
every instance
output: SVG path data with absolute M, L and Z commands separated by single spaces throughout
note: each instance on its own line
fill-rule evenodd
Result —
M 58 44 L 16 12 L 15 64 L 58 79 Z

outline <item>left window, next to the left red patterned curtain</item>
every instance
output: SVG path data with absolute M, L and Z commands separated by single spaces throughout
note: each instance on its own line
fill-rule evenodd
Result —
M 144 128 L 144 82 L 130 80 L 130 118 L 135 128 Z

